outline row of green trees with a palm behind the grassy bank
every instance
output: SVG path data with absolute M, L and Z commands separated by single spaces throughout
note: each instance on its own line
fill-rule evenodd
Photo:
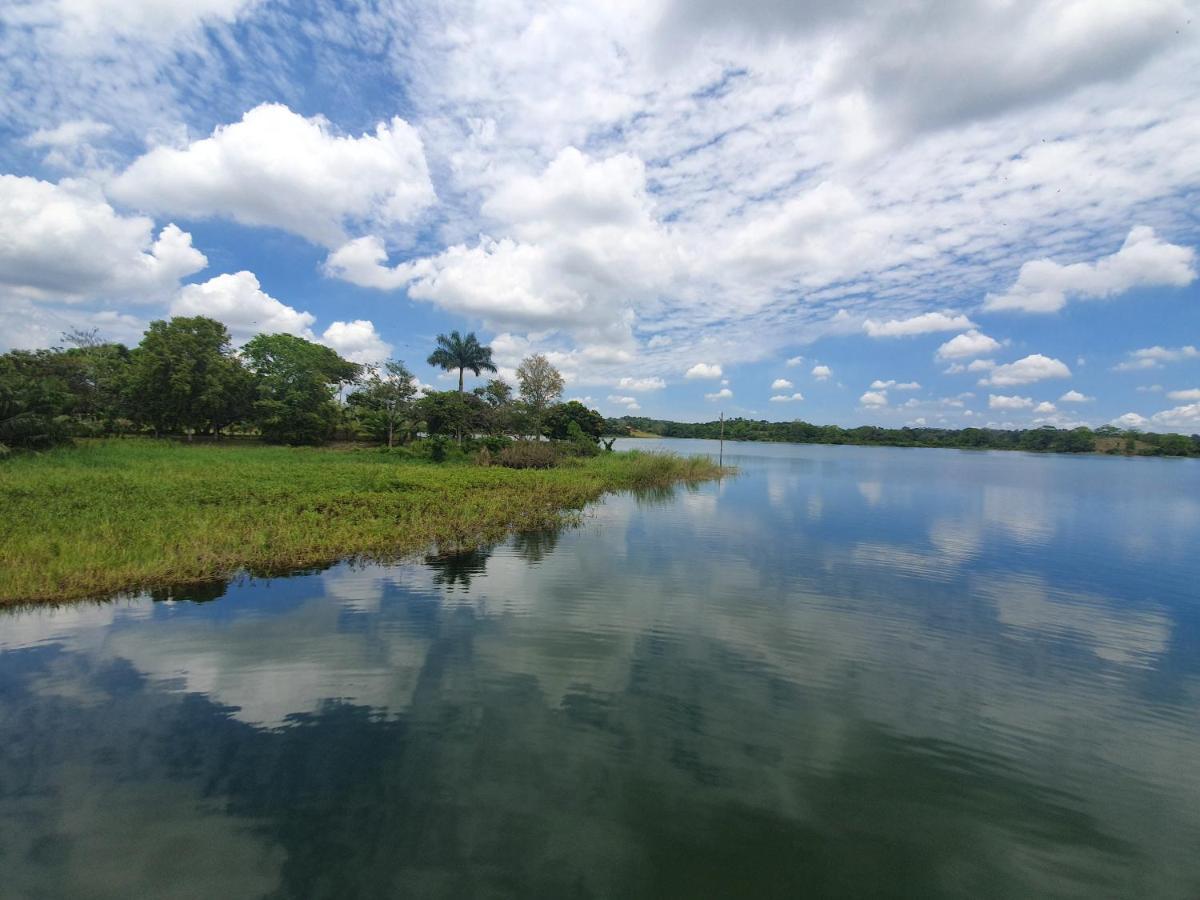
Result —
M 388 446 L 546 437 L 590 449 L 600 439 L 604 418 L 562 402 L 563 377 L 540 354 L 521 362 L 516 390 L 502 378 L 464 389 L 464 372 L 497 372 L 474 334 L 439 335 L 428 362 L 457 372 L 457 390 L 421 391 L 401 360 L 356 364 L 289 334 L 238 348 L 203 316 L 152 322 L 132 348 L 72 331 L 61 346 L 0 355 L 0 455 L 118 434 Z

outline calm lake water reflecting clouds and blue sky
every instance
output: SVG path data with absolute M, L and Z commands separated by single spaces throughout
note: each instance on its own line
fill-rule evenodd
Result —
M 1200 464 L 726 450 L 0 616 L 0 895 L 1200 896 Z

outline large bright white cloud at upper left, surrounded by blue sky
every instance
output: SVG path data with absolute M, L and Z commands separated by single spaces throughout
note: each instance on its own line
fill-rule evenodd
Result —
M 373 134 L 340 136 L 264 103 L 241 121 L 182 148 L 158 146 L 109 186 L 139 209 L 193 218 L 228 217 L 338 246 L 352 226 L 392 229 L 434 198 L 421 138 L 403 119 Z

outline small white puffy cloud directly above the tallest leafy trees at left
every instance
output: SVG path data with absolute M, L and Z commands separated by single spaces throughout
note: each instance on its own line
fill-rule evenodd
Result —
M 218 275 L 187 284 L 170 304 L 172 316 L 208 316 L 223 322 L 238 343 L 258 334 L 286 331 L 312 340 L 317 317 L 280 302 L 262 289 L 253 272 Z

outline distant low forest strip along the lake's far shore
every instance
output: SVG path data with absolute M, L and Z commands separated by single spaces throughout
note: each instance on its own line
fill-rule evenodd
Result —
M 707 438 L 721 434 L 721 422 L 672 422 L 625 415 L 606 420 L 613 434 L 654 434 L 664 438 Z M 1200 456 L 1200 434 L 1153 434 L 1105 425 L 1099 428 L 881 428 L 863 425 L 812 425 L 726 419 L 726 440 L 769 440 L 791 444 L 864 444 L 880 446 L 943 446 L 964 450 L 1027 450 L 1051 454 L 1123 454 L 1128 456 Z

